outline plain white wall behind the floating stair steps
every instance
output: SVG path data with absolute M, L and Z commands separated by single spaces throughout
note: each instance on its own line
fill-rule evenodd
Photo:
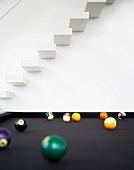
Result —
M 5 111 L 134 110 L 134 1 L 115 0 L 56 59 L 41 59 L 40 73 L 27 73 L 21 59 L 39 58 L 37 45 L 53 42 L 56 28 L 85 9 L 86 0 L 22 0 L 0 20 L 0 83 L 22 73 L 28 86 L 0 99 Z M 12 88 L 12 87 L 11 87 Z

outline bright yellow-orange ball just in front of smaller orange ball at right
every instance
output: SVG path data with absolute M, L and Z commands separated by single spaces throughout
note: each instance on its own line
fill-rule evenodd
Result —
M 113 117 L 108 117 L 104 120 L 104 126 L 106 129 L 112 130 L 115 129 L 117 125 L 117 122 L 115 118 Z

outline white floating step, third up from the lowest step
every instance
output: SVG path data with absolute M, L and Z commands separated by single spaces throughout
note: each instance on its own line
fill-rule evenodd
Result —
M 40 60 L 22 60 L 21 67 L 28 72 L 41 71 Z

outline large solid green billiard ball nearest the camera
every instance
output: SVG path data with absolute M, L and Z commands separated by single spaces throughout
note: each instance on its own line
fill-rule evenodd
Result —
M 47 160 L 57 162 L 66 155 L 67 144 L 61 136 L 50 135 L 42 140 L 41 151 Z

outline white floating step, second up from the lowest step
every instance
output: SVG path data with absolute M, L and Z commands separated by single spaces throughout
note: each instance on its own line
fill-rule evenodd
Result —
M 27 79 L 24 76 L 20 75 L 7 75 L 5 77 L 5 82 L 12 84 L 14 86 L 26 86 Z

